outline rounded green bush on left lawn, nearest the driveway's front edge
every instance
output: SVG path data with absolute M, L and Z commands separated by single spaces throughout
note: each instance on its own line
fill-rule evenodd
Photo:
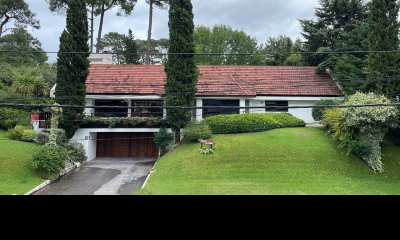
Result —
M 32 155 L 32 166 L 44 178 L 59 174 L 65 167 L 68 152 L 62 146 L 45 145 L 39 147 Z

